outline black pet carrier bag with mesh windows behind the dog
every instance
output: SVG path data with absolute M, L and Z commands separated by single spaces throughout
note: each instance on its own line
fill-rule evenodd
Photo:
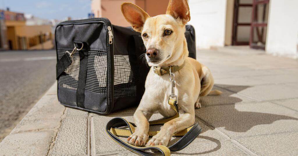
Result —
M 195 58 L 192 26 L 185 36 Z M 140 33 L 91 18 L 58 24 L 55 41 L 61 104 L 99 114 L 139 104 L 150 69 L 140 57 L 146 52 Z

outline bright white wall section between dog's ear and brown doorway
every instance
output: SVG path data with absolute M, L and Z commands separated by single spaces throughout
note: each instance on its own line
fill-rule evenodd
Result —
M 226 0 L 188 0 L 198 48 L 224 46 Z

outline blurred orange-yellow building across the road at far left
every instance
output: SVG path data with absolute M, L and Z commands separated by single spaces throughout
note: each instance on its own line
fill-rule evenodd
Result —
M 2 50 L 51 49 L 51 25 L 26 24 L 23 13 L 0 10 Z

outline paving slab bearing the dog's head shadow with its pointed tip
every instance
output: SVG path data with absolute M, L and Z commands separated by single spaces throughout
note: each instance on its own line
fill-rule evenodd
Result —
M 270 102 L 208 106 L 196 116 L 230 138 L 298 131 L 297 111 Z

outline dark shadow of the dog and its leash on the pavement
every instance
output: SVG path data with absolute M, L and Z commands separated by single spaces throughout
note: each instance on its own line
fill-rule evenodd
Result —
M 233 87 L 234 92 L 230 92 L 224 89 L 228 87 Z M 274 121 L 278 121 L 278 120 L 298 120 L 298 118 L 293 118 L 285 115 L 276 115 L 276 114 L 261 113 L 261 112 L 245 112 L 245 111 L 239 111 L 238 109 L 236 109 L 235 108 L 236 103 L 242 102 L 243 100 L 240 98 L 234 97 L 232 95 L 235 94 L 235 92 L 240 92 L 249 87 L 250 86 L 215 85 L 214 88 L 223 91 L 223 94 L 220 96 L 206 96 L 201 98 L 202 108 L 196 110 L 196 113 L 200 114 L 200 115 L 196 114 L 196 116 L 199 117 L 199 120 L 206 123 L 209 127 L 212 127 L 212 129 L 217 127 L 224 127 L 225 130 L 232 131 L 232 132 L 247 132 L 254 126 L 271 124 Z M 215 106 L 215 105 L 224 105 L 224 108 L 221 108 L 221 106 Z M 216 108 L 213 107 L 215 109 L 208 109 L 207 107 L 209 106 L 211 107 L 215 106 Z M 212 110 L 212 112 L 210 112 L 210 110 Z M 212 122 L 208 122 L 208 118 L 212 118 L 212 117 L 208 117 L 210 113 L 216 114 L 216 115 L 213 115 L 213 118 L 216 118 L 217 120 L 211 120 Z M 224 122 L 224 120 L 226 122 Z M 203 129 L 201 134 L 203 134 L 207 130 L 208 129 Z M 212 141 L 216 144 L 216 147 L 211 150 L 206 150 L 206 151 L 197 152 L 197 153 L 189 153 L 189 150 L 187 150 L 188 151 L 187 153 L 173 152 L 173 154 L 201 155 L 201 154 L 215 152 L 221 149 L 221 141 L 215 138 L 202 136 L 202 135 L 199 135 L 198 138 Z M 175 143 L 179 139 L 180 138 L 175 138 L 171 140 L 169 144 Z

